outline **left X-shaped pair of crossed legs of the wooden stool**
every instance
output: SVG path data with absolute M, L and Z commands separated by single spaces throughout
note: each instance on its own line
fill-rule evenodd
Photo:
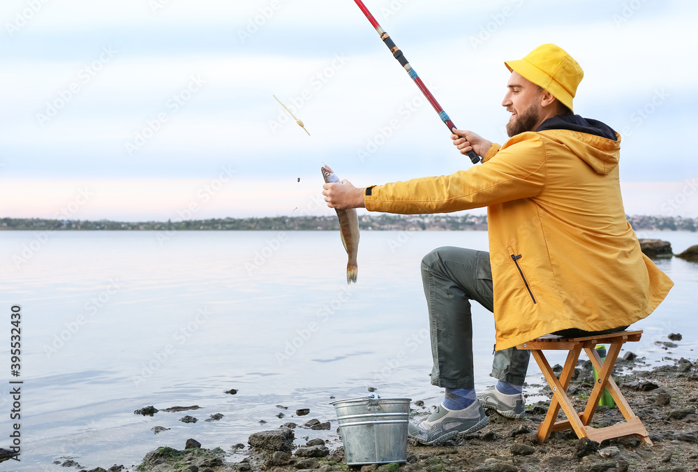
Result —
M 581 347 L 581 344 L 578 344 L 577 346 L 574 346 L 574 348 L 570 349 L 569 353 L 567 353 L 567 359 L 565 360 L 565 366 L 563 367 L 563 371 L 560 373 L 559 381 L 556 378 L 552 369 L 550 368 L 550 365 L 548 364 L 548 361 L 544 357 L 542 351 L 531 350 L 533 358 L 537 362 L 538 367 L 540 367 L 540 370 L 543 372 L 543 375 L 547 380 L 548 385 L 550 385 L 550 388 L 556 388 L 556 390 L 559 390 L 553 392 L 553 398 L 550 401 L 548 413 L 547 415 L 545 415 L 545 419 L 540 424 L 540 427 L 538 427 L 537 437 L 538 441 L 541 443 L 544 442 L 550 436 L 550 433 L 553 431 L 555 420 L 558 416 L 558 412 L 560 411 L 561 406 L 565 411 L 565 415 L 567 415 L 567 420 L 570 422 L 570 427 L 574 429 L 574 432 L 577 433 L 577 436 L 579 438 L 584 436 L 584 432 L 582 432 L 581 429 L 581 422 L 579 421 L 579 415 L 577 415 L 577 413 L 574 412 L 572 404 L 570 404 L 570 400 L 567 399 L 567 395 L 565 393 L 567 392 L 567 387 L 570 386 L 570 380 L 572 379 L 574 367 L 577 366 L 577 360 L 579 360 Z M 559 388 L 556 387 L 556 384 L 559 385 Z M 562 398 L 563 401 L 560 401 L 560 398 Z M 565 401 L 566 405 L 563 406 L 563 403 L 565 403 Z

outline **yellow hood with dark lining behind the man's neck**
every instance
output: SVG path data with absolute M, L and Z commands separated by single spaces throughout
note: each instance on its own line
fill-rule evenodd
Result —
M 567 146 L 599 174 L 608 175 L 618 165 L 621 136 L 601 121 L 557 115 L 543 121 L 535 131 Z

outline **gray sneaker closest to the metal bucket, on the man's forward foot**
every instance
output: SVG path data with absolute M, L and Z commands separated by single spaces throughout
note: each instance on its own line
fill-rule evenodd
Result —
M 408 437 L 417 444 L 440 444 L 461 433 L 472 433 L 487 426 L 489 419 L 480 402 L 464 410 L 449 410 L 443 405 L 418 425 L 410 423 Z

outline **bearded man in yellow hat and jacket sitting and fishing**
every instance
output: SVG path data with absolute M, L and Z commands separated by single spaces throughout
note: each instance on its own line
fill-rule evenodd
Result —
M 572 115 L 584 73 L 552 44 L 511 72 L 502 105 L 505 145 L 454 129 L 454 145 L 483 156 L 452 175 L 356 189 L 325 184 L 329 207 L 403 214 L 487 207 L 490 253 L 439 248 L 422 260 L 429 305 L 431 383 L 445 399 L 410 437 L 436 444 L 487 425 L 484 408 L 523 418 L 528 351 L 514 346 L 550 332 L 622 330 L 645 318 L 673 283 L 640 251 L 618 183 L 620 135 Z M 475 395 L 470 300 L 493 311 L 498 384 Z M 480 401 L 477 401 L 479 399 Z

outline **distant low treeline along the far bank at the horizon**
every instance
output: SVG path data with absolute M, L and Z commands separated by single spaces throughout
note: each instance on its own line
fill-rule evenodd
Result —
M 632 228 L 639 230 L 692 231 L 698 218 L 681 216 L 628 216 Z M 389 215 L 372 214 L 359 218 L 361 230 L 461 231 L 487 230 L 487 216 L 480 215 Z M 0 230 L 339 230 L 336 216 L 276 216 L 275 218 L 224 218 L 179 221 L 81 221 L 50 219 L 0 219 Z

